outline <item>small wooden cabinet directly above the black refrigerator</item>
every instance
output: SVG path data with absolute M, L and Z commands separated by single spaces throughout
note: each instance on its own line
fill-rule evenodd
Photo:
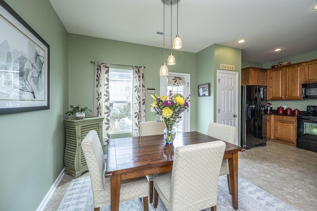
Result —
M 241 74 L 241 85 L 266 85 L 266 69 L 247 67 Z

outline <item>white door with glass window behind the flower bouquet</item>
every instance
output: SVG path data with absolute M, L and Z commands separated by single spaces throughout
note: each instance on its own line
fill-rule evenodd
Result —
M 185 84 L 181 86 L 170 86 L 167 83 L 167 76 L 160 76 L 160 93 L 159 96 L 167 96 L 169 90 L 172 90 L 173 93 L 181 93 L 185 97 L 190 94 L 190 74 L 187 73 L 168 73 L 168 76 L 174 76 L 174 77 L 183 77 L 185 79 Z M 187 132 L 190 131 L 190 102 L 189 102 L 189 108 L 187 111 L 182 113 L 181 121 L 177 124 L 177 126 L 174 127 L 176 132 Z

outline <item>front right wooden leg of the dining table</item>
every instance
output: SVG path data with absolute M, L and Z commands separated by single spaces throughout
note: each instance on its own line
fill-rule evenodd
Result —
M 238 210 L 238 152 L 232 153 L 232 158 L 228 159 L 228 163 L 232 207 L 234 210 Z

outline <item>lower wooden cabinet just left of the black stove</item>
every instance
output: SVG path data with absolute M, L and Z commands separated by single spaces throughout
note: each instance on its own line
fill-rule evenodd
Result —
M 274 115 L 274 140 L 296 146 L 296 117 Z

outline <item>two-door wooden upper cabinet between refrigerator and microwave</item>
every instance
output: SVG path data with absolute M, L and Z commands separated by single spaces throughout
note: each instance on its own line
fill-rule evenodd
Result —
M 302 99 L 302 63 L 269 69 L 267 100 Z

